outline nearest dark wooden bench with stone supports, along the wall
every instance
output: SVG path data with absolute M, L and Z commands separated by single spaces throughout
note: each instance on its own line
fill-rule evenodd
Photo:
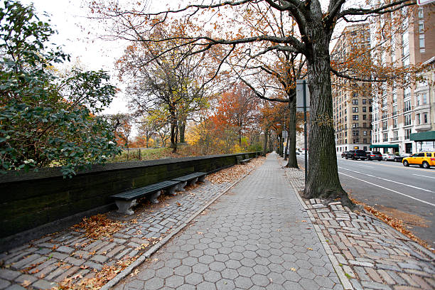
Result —
M 161 190 L 165 190 L 169 195 L 176 195 L 175 190 L 178 188 L 179 183 L 180 181 L 161 181 L 159 183 L 150 184 L 149 186 L 111 195 L 111 198 L 115 199 L 115 203 L 118 206 L 118 213 L 132 215 L 134 214 L 134 211 L 131 210 L 131 207 L 137 204 L 137 198 L 149 196 L 151 203 L 159 203 L 157 198 L 160 196 Z

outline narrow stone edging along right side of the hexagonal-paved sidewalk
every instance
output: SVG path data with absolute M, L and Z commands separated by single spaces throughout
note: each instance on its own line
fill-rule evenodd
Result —
M 306 213 L 310 217 L 311 223 L 316 222 L 316 218 L 314 218 L 313 214 L 311 213 L 311 210 L 308 210 L 308 206 L 304 203 L 304 200 L 302 200 L 301 196 L 297 193 L 297 188 L 294 186 L 294 184 L 290 180 L 289 173 L 284 169 L 287 179 L 289 180 L 289 183 L 291 185 L 291 188 L 293 188 L 294 195 L 296 195 L 296 198 L 299 200 L 299 203 L 301 203 L 302 207 L 306 210 Z M 314 230 L 316 230 L 316 234 L 318 236 L 318 239 L 320 240 L 321 244 L 323 245 L 323 249 L 325 249 L 326 254 L 328 255 L 329 260 L 331 261 L 331 264 L 333 265 L 333 268 L 335 270 L 335 273 L 337 273 L 338 279 L 340 279 L 341 285 L 343 286 L 343 289 L 345 290 L 353 290 L 352 284 L 350 284 L 350 281 L 348 277 L 345 276 L 343 269 L 341 269 L 340 264 L 337 261 L 337 258 L 335 258 L 331 247 L 329 247 L 328 242 L 326 242 L 325 236 L 323 235 L 323 232 L 321 231 L 321 228 L 318 225 L 314 225 Z

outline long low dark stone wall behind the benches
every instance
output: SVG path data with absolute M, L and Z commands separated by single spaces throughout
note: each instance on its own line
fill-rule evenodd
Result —
M 259 154 L 251 152 L 249 157 Z M 110 210 L 113 200 L 109 196 L 115 193 L 196 171 L 215 172 L 237 163 L 238 155 L 244 154 L 109 163 L 73 178 L 63 178 L 60 168 L 7 173 L 0 176 L 0 247 L 18 233 L 40 227 L 41 234 L 53 230 L 47 225 L 58 220 L 80 220 L 90 212 Z M 28 240 L 28 235 L 19 238 Z

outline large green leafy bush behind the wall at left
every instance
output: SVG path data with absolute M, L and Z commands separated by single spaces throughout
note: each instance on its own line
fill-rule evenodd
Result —
M 120 152 L 109 123 L 95 117 L 114 97 L 109 76 L 56 75 L 53 65 L 70 56 L 48 48 L 53 33 L 33 6 L 4 1 L 0 8 L 1 173 L 63 166 L 64 177 L 71 177 Z

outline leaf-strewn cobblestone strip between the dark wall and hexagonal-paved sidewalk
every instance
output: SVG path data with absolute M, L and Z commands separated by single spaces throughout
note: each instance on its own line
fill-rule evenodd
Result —
M 176 227 L 186 222 L 230 183 L 202 185 L 180 193 L 159 205 L 141 205 L 132 216 L 109 213 L 124 227 L 112 237 L 84 237 L 83 230 L 68 228 L 39 240 L 0 253 L 0 289 L 50 289 L 66 278 L 75 282 L 90 279 L 103 266 L 120 259 L 138 257 Z

